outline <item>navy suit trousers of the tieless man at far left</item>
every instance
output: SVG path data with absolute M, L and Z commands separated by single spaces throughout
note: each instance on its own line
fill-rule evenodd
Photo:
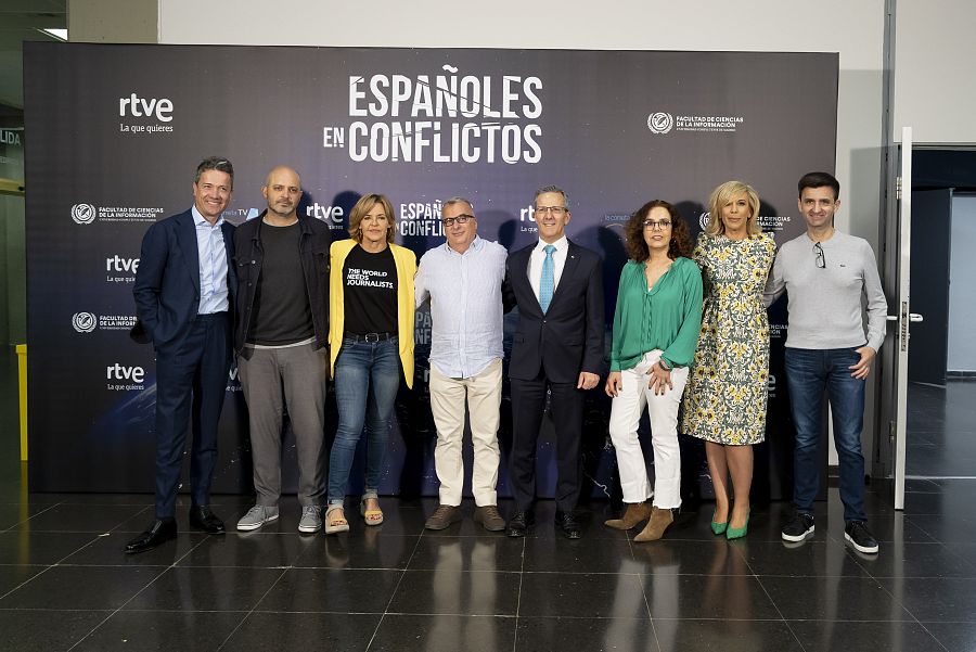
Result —
M 210 503 L 230 345 L 230 319 L 227 312 L 217 312 L 196 317 L 187 340 L 176 350 L 156 354 L 156 517 L 170 517 L 176 512 L 191 425 L 191 500 L 194 506 Z

